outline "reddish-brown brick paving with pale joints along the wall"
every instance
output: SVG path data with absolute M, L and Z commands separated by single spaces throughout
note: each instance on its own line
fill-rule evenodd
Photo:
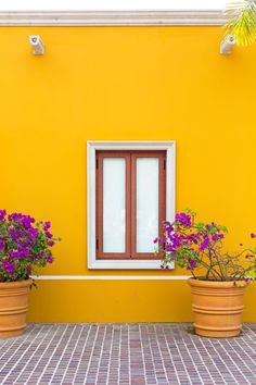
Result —
M 0 384 L 256 385 L 256 324 L 228 339 L 189 323 L 30 324 L 0 340 Z

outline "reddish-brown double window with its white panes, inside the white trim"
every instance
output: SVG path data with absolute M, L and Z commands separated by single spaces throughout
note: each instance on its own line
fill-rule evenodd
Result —
M 97 259 L 158 259 L 166 151 L 97 151 Z

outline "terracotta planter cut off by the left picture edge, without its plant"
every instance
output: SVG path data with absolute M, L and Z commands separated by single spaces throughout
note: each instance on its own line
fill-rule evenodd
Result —
M 31 280 L 0 283 L 0 338 L 23 334 L 31 283 Z

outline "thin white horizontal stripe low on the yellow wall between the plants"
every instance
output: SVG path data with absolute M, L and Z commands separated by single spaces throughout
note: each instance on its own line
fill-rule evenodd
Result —
M 190 275 L 39 275 L 39 281 L 184 281 Z

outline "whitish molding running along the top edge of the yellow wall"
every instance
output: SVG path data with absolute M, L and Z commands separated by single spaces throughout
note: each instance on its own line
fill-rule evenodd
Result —
M 0 26 L 178 26 L 226 22 L 223 11 L 0 12 Z

